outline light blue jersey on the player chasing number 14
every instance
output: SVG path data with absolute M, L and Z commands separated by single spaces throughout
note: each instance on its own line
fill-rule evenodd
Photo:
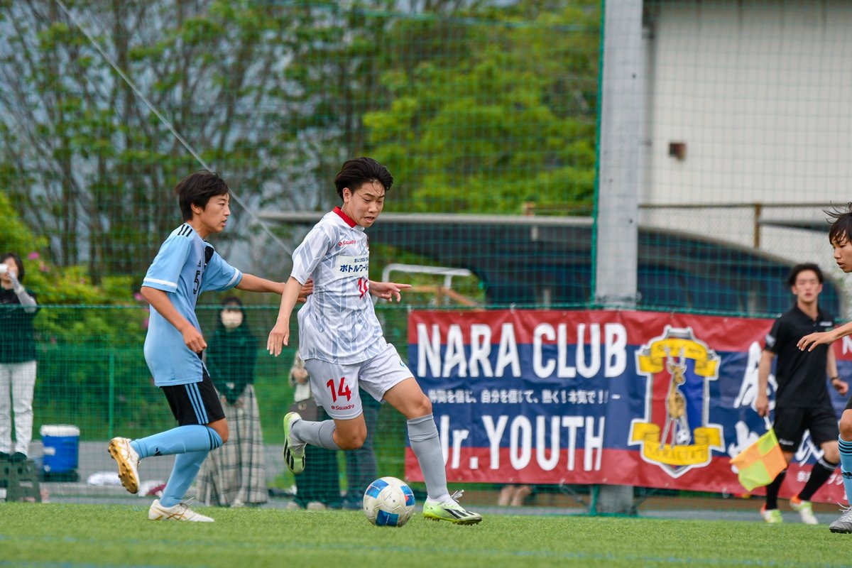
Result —
M 243 273 L 222 260 L 186 223 L 171 232 L 148 267 L 143 286 L 163 290 L 176 310 L 201 330 L 195 304 L 205 290 L 228 290 Z M 145 361 L 158 387 L 199 382 L 204 364 L 183 342 L 177 328 L 151 308 L 145 336 Z

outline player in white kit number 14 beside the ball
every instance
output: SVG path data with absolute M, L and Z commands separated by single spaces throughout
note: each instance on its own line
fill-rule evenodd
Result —
M 408 424 L 408 439 L 423 471 L 427 519 L 475 525 L 482 520 L 458 504 L 461 493 L 446 488 L 444 456 L 432 403 L 423 394 L 393 345 L 384 340 L 370 294 L 400 301 L 410 284 L 371 282 L 366 227 L 382 212 L 394 178 L 372 158 L 348 160 L 334 180 L 343 204 L 327 213 L 293 252 L 293 271 L 281 295 L 278 320 L 267 347 L 276 357 L 290 341 L 290 316 L 302 284 L 314 293 L 299 310 L 299 353 L 310 373 L 311 391 L 332 420 L 308 422 L 296 412 L 284 418 L 284 459 L 293 473 L 305 468 L 305 445 L 355 450 L 364 444 L 366 423 L 358 387 L 385 400 Z

